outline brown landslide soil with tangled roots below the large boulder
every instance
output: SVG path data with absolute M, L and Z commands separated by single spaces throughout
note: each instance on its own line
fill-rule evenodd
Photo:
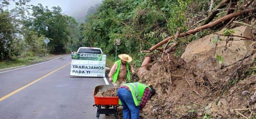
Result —
M 252 59 L 245 59 L 218 104 L 223 84 L 241 61 L 222 69 L 202 70 L 199 62 L 185 62 L 173 54 L 155 60 L 141 82 L 155 87 L 157 94 L 148 100 L 141 115 L 144 119 L 242 118 L 236 111 L 247 117 L 253 115 L 256 68 L 249 67 L 256 63 Z M 245 95 L 243 91 L 247 91 Z M 241 108 L 245 110 L 234 110 Z

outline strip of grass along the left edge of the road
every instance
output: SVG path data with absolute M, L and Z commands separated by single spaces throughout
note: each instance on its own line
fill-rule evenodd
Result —
M 48 54 L 48 56 L 52 56 L 52 54 Z M 11 60 L 5 60 L 0 62 L 0 69 L 22 66 L 22 65 L 31 65 L 35 62 L 40 62 L 46 60 L 45 57 L 39 57 L 33 55 L 32 52 L 24 52 L 20 56 L 13 56 Z

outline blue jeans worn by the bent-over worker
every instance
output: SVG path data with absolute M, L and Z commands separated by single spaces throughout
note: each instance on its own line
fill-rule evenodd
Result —
M 119 88 L 117 95 L 123 104 L 124 119 L 139 119 L 140 107 L 134 104 L 131 92 L 125 88 Z

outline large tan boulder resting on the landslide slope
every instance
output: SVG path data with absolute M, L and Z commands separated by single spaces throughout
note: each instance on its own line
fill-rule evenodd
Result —
M 217 32 L 218 34 L 223 34 L 223 31 L 225 29 Z M 232 29 L 235 33 L 233 35 L 237 36 L 243 36 L 247 38 L 252 37 L 252 33 L 250 28 L 247 26 L 241 26 Z M 215 44 L 211 44 L 212 41 L 216 38 L 219 37 L 223 39 L 222 41 L 217 42 L 217 47 Z M 185 49 L 185 52 L 182 54 L 182 58 L 189 62 L 191 60 L 196 60 L 199 61 L 200 64 L 207 64 L 210 61 L 212 62 L 213 60 L 209 60 L 209 57 L 214 57 L 216 54 L 223 56 L 223 63 L 222 66 L 228 66 L 231 65 L 239 60 L 242 60 L 248 49 L 250 49 L 250 45 L 253 43 L 252 40 L 241 40 L 245 38 L 241 37 L 236 37 L 233 36 L 233 40 L 229 41 L 226 43 L 227 36 L 221 36 L 217 34 L 210 34 L 208 36 L 204 36 L 201 39 L 195 40 L 191 42 Z M 229 37 L 230 38 L 230 37 Z M 226 46 L 226 50 L 225 50 Z M 216 47 L 216 51 L 215 51 Z M 215 52 L 215 56 L 214 56 Z M 212 63 L 216 64 L 216 63 Z M 203 66 L 202 65 L 202 66 Z M 199 68 L 203 68 L 201 65 L 199 65 Z M 214 66 L 215 68 L 220 68 L 219 66 Z

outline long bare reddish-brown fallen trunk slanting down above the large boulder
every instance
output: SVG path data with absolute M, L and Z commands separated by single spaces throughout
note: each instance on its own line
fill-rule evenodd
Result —
M 228 19 L 232 19 L 234 17 L 238 17 L 238 16 L 241 16 L 241 15 L 244 15 L 244 14 L 247 14 L 247 13 L 255 13 L 256 12 L 256 8 L 251 8 L 251 9 L 247 9 L 247 10 L 243 10 L 243 11 L 238 11 L 238 12 L 234 12 L 232 14 L 229 14 L 227 16 L 224 16 L 212 23 L 209 23 L 209 24 L 206 24 L 204 26 L 201 26 L 199 28 L 196 28 L 194 30 L 189 30 L 187 31 L 186 33 L 181 33 L 179 37 L 183 37 L 183 36 L 186 36 L 186 35 L 190 35 L 190 34 L 194 34 L 194 33 L 197 33 L 199 32 L 200 30 L 204 30 L 204 29 L 208 29 L 208 28 L 212 28 L 214 26 L 216 26 L 217 24 L 223 22 L 223 21 L 226 21 Z M 161 41 L 160 43 L 156 44 L 155 46 L 151 47 L 149 49 L 149 51 L 142 51 L 142 52 L 152 52 L 153 50 L 155 50 L 156 48 L 158 48 L 159 46 L 167 43 L 170 39 L 172 39 L 172 36 L 171 37 L 168 37 L 166 39 L 164 39 L 163 41 Z

